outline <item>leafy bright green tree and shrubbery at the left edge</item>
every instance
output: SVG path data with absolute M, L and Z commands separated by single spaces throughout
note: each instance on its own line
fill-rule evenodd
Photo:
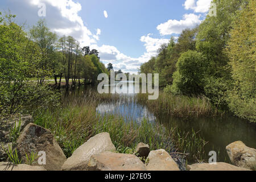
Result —
M 31 80 L 38 76 L 42 52 L 38 43 L 32 42 L 23 28 L 11 20 L 14 17 L 0 18 L 0 23 L 4 21 L 0 24 L 0 115 L 34 114 L 57 106 L 59 96 Z M 47 72 L 43 68 L 41 71 Z

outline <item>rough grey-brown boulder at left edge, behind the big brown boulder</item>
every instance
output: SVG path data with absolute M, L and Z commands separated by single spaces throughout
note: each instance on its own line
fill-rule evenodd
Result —
M 7 159 L 6 151 L 9 149 L 9 146 L 12 146 L 11 142 L 13 141 L 10 137 L 10 131 L 14 129 L 14 127 L 18 128 L 19 123 L 19 130 L 22 131 L 24 127 L 33 122 L 31 115 L 15 115 L 13 117 L 0 119 L 0 162 Z

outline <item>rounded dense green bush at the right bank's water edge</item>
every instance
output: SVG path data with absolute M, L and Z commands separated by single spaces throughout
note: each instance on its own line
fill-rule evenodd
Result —
M 174 94 L 203 94 L 206 57 L 196 51 L 188 51 L 180 56 L 177 72 L 174 74 L 172 92 Z

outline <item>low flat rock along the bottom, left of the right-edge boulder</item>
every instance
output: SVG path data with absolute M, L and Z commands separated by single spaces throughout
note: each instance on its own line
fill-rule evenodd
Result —
M 249 169 L 233 166 L 228 163 L 192 164 L 187 166 L 188 171 L 250 171 Z

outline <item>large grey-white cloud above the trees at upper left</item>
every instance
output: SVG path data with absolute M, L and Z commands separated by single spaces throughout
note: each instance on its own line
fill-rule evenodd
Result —
M 46 17 L 39 17 L 38 11 L 41 3 L 46 5 Z M 32 26 L 40 18 L 45 18 L 51 31 L 59 36 L 70 35 L 81 43 L 81 46 L 90 46 L 97 43 L 98 35 L 84 25 L 84 21 L 79 16 L 82 10 L 80 3 L 72 0 L 10 0 L 7 1 L 11 13 L 18 15 L 19 23 L 27 22 Z

